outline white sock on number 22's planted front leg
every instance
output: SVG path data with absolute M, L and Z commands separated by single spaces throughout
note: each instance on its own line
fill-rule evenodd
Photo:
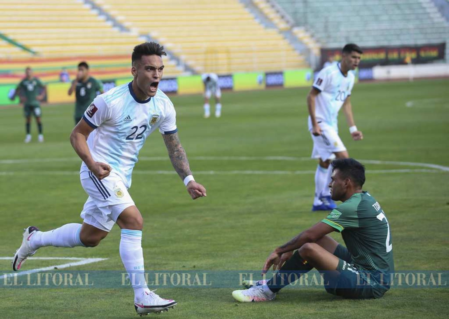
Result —
M 134 288 L 134 301 L 139 301 L 143 292 L 150 291 L 144 275 L 141 230 L 122 229 L 120 257 Z

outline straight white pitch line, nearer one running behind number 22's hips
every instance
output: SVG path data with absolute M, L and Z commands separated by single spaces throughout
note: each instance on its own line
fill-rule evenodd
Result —
M 195 175 L 308 175 L 315 174 L 315 171 L 195 171 Z M 371 169 L 366 171 L 367 174 L 389 174 L 389 173 L 441 173 L 438 169 Z M 135 175 L 176 175 L 174 170 L 171 171 L 148 171 L 136 170 Z M 79 171 L 0 171 L 0 176 L 29 176 L 29 175 L 79 175 Z

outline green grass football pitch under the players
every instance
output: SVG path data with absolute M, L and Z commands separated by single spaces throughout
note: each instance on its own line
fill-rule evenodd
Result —
M 364 188 L 387 213 L 396 270 L 449 270 L 449 172 L 388 163 L 449 166 L 448 87 L 449 80 L 356 84 L 351 98 L 364 140 L 352 141 L 344 116 L 339 119 L 349 154 L 367 160 Z M 154 133 L 130 189 L 145 220 L 146 270 L 259 270 L 277 245 L 326 216 L 310 211 L 316 162 L 307 159 L 307 93 L 224 93 L 222 117 L 207 120 L 201 96 L 172 97 L 181 142 L 207 198 L 192 201 L 175 174 L 154 173 L 173 170 Z M 21 107 L 0 109 L 0 257 L 12 256 L 28 225 L 49 230 L 81 222 L 87 195 L 69 142 L 72 114 L 73 105 L 44 106 L 45 142 L 36 142 L 33 123 L 33 142 L 24 144 Z M 36 257 L 108 258 L 66 270 L 123 270 L 119 239 L 114 226 L 96 248 L 42 248 Z M 24 268 L 55 263 L 29 260 Z M 0 260 L 0 270 L 9 272 L 10 262 Z M 161 318 L 441 318 L 449 312 L 448 288 L 392 288 L 368 301 L 291 288 L 275 301 L 251 304 L 234 302 L 233 288 L 239 287 L 158 289 L 179 303 Z M 131 288 L 0 288 L 0 296 L 1 318 L 136 317 Z

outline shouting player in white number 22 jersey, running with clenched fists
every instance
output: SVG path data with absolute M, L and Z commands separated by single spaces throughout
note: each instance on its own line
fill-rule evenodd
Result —
M 206 189 L 192 176 L 176 133 L 173 104 L 158 90 L 164 68 L 162 55 L 166 53 L 157 43 L 137 45 L 132 53 L 132 82 L 97 96 L 84 112 L 83 120 L 70 135 L 73 148 L 83 160 L 81 185 L 89 195 L 81 212 L 83 224 L 66 224 L 46 232 L 27 227 L 22 246 L 14 255 L 14 271 L 40 247 L 95 247 L 117 223 L 121 228 L 120 257 L 134 288 L 136 312 L 146 315 L 176 305 L 176 301 L 148 289 L 141 247 L 143 219 L 128 193 L 139 150 L 158 129 L 192 199 L 206 196 Z

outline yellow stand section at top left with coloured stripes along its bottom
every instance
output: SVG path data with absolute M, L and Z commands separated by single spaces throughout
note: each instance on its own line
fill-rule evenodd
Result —
M 1 40 L 0 83 L 18 81 L 25 66 L 46 82 L 57 81 L 62 67 L 73 79 L 81 60 L 99 79 L 129 78 L 132 48 L 145 41 L 114 28 L 82 1 L 0 0 L 0 7 L 0 31 L 37 53 Z M 169 58 L 164 64 L 165 77 L 182 73 Z

